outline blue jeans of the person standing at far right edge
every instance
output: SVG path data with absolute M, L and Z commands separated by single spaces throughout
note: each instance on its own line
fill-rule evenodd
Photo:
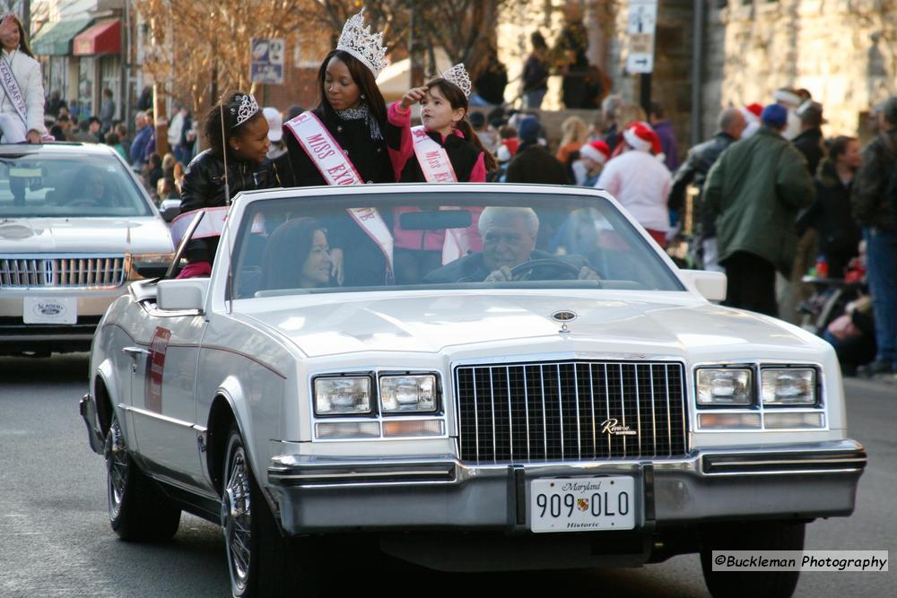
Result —
M 897 368 L 897 232 L 864 229 L 869 290 L 875 316 L 875 360 Z

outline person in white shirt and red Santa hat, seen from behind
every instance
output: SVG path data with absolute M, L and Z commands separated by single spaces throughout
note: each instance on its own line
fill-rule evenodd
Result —
M 660 138 L 648 123 L 636 121 L 623 131 L 625 150 L 609 160 L 596 187 L 605 189 L 658 242 L 666 246 L 669 214 L 666 198 L 672 176 L 663 163 Z

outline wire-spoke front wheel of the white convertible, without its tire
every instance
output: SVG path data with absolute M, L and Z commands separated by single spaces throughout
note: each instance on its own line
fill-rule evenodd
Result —
M 231 581 L 240 591 L 246 589 L 252 556 L 251 482 L 243 446 L 233 448 L 222 496 L 222 528 L 227 545 Z

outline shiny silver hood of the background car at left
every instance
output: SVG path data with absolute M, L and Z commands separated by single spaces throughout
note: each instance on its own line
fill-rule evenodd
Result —
M 144 254 L 173 251 L 161 219 L 32 218 L 0 221 L 0 253 Z

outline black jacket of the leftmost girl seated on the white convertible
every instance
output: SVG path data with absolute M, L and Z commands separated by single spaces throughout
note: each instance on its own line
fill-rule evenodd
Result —
M 277 170 L 271 160 L 252 164 L 242 160 L 228 160 L 228 186 L 231 199 L 240 191 L 271 189 L 281 186 Z M 225 205 L 224 160 L 211 150 L 200 152 L 190 161 L 184 172 L 180 211 Z

